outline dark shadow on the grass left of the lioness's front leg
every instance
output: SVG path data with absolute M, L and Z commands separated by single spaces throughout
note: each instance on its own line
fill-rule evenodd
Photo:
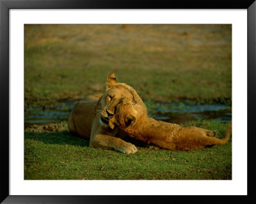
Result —
M 24 139 L 42 141 L 52 145 L 89 146 L 89 140 L 82 139 L 67 130 L 61 132 L 25 132 Z

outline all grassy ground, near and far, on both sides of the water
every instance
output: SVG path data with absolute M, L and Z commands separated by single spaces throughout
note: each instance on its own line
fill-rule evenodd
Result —
M 106 77 L 154 102 L 232 103 L 230 25 L 25 25 L 25 107 L 104 91 Z M 193 122 L 224 135 L 227 124 Z M 52 127 L 51 127 L 52 128 Z M 231 179 L 232 147 L 191 152 L 88 147 L 60 132 L 24 133 L 25 179 Z

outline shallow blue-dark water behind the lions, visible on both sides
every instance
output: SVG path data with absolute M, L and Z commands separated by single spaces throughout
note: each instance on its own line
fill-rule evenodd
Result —
M 225 104 L 191 105 L 179 103 L 157 104 L 152 113 L 148 114 L 156 120 L 171 123 L 185 123 L 191 120 L 217 120 L 218 122 L 230 122 L 232 113 L 230 107 Z M 73 102 L 65 103 L 65 106 L 56 109 L 29 108 L 24 113 L 25 128 L 31 125 L 45 125 L 47 123 L 60 123 L 67 121 Z

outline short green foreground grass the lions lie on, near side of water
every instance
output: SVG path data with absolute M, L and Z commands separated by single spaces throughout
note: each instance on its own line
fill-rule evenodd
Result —
M 227 123 L 189 122 L 224 137 Z M 230 180 L 232 143 L 190 152 L 138 147 L 126 155 L 90 148 L 89 141 L 63 132 L 24 133 L 26 180 Z

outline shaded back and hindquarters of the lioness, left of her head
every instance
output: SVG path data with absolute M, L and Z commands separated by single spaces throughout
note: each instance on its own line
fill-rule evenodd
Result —
M 68 129 L 74 134 L 90 138 L 94 111 L 102 94 L 88 95 L 77 102 L 68 117 Z

